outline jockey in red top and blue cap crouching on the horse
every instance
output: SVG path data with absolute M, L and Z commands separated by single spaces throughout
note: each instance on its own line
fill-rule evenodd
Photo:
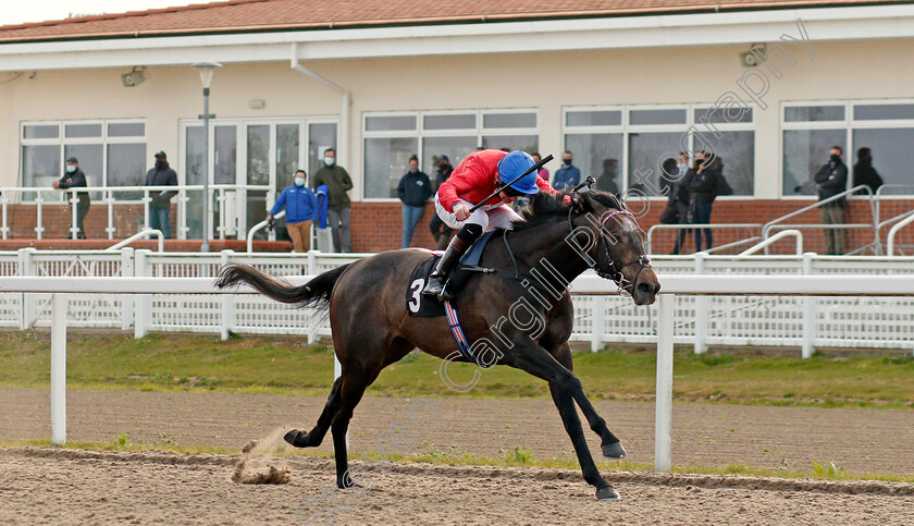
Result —
M 422 294 L 450 299 L 450 294 L 444 292 L 444 283 L 467 249 L 483 232 L 511 230 L 511 222 L 521 219 L 506 205 L 524 194 L 532 195 L 541 189 L 556 193 L 535 171 L 508 186 L 508 183 L 533 164 L 533 158 L 527 152 L 515 150 L 507 154 L 487 149 L 471 154 L 454 169 L 454 173 L 441 184 L 435 194 L 435 212 L 445 224 L 459 231 L 450 240 L 434 272 L 429 276 L 429 283 Z M 502 188 L 498 195 L 470 212 L 475 203 L 498 188 Z

